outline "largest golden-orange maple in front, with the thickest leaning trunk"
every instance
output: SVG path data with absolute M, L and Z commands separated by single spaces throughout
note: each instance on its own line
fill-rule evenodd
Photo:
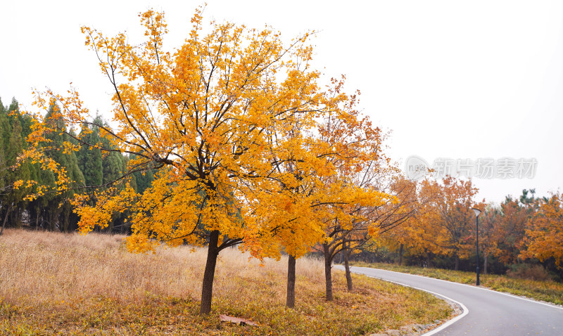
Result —
M 37 93 L 34 105 L 61 105 L 51 117 L 64 121 L 62 131 L 74 141 L 56 150 L 89 146 L 103 155 L 134 157 L 122 176 L 96 193 L 75 198 L 80 230 L 103 228 L 113 214 L 126 212 L 132 224 L 127 248 L 132 252 L 150 251 L 160 243 L 206 245 L 201 313 L 208 314 L 219 252 L 245 243 L 258 257 L 274 254 L 265 247 L 280 244 L 297 257 L 303 254 L 323 232 L 322 221 L 308 220 L 320 218 L 312 215 L 312 207 L 322 211 L 320 205 L 343 195 L 327 199 L 337 188 L 320 184 L 336 176 L 331 157 L 342 158 L 362 146 L 358 143 L 377 143 L 379 134 L 370 127 L 361 129 L 356 98 L 342 92 L 343 81 L 319 84 L 320 72 L 310 67 L 310 34 L 284 44 L 268 28 L 251 30 L 229 22 L 211 22 L 203 34 L 198 9 L 185 43 L 167 51 L 163 13 L 146 11 L 139 17 L 145 28 L 141 44 L 129 43 L 126 34 L 107 37 L 82 27 L 86 45 L 113 89 L 112 127 L 92 121 L 73 89 L 65 95 Z M 29 113 L 36 119 L 28 138 L 35 146 L 20 160 L 39 162 L 55 172 L 58 190 L 52 191 L 96 187 L 72 181 L 49 160 L 39 143 L 61 129 L 49 127 L 41 112 Z M 343 133 L 331 136 L 354 129 L 354 141 L 319 141 L 319 123 L 326 115 L 343 125 Z M 103 142 L 88 141 L 93 124 Z M 81 128 L 79 136 L 68 131 Z M 139 172 L 156 172 L 144 193 L 129 186 L 129 176 Z

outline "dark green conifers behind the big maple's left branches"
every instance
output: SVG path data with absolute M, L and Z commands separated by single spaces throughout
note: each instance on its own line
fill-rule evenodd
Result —
M 94 193 L 96 190 L 89 186 L 100 186 L 104 183 L 115 180 L 125 172 L 125 165 L 132 158 L 121 155 L 118 152 L 102 156 L 101 150 L 87 146 L 80 146 L 80 143 L 72 134 L 78 134 L 77 138 L 85 138 L 90 143 L 101 143 L 104 147 L 111 147 L 106 138 L 99 134 L 99 128 L 95 126 L 106 124 L 97 116 L 94 125 L 84 125 L 82 129 L 71 130 L 70 136 L 67 134 L 49 134 L 48 142 L 44 146 L 53 148 L 49 152 L 50 157 L 61 167 L 65 167 L 68 176 L 72 179 L 73 188 L 62 195 L 45 193 L 34 200 L 26 200 L 25 196 L 29 188 L 14 188 L 15 181 L 36 181 L 37 186 L 52 186 L 55 184 L 56 177 L 48 170 L 40 169 L 39 162 L 24 162 L 17 169 L 15 164 L 18 155 L 27 149 L 26 138 L 29 136 L 32 119 L 21 115 L 18 110 L 18 101 L 13 98 L 9 106 L 4 106 L 0 100 L 0 220 L 2 227 L 21 227 L 30 226 L 36 229 L 49 231 L 75 231 L 78 226 L 76 214 L 72 212 L 70 198 L 76 193 L 90 193 L 92 202 L 95 202 Z M 48 114 L 57 110 L 55 105 L 51 106 Z M 75 133 L 76 132 L 76 133 Z M 84 134 L 81 134 L 84 132 Z M 56 148 L 63 148 L 62 144 L 68 141 L 80 146 L 77 152 L 67 151 L 64 153 Z M 151 186 L 153 181 L 152 172 L 135 172 L 129 180 L 134 190 L 142 193 Z M 115 214 L 112 223 L 105 228 L 107 232 L 127 233 L 129 226 L 125 221 L 124 214 Z

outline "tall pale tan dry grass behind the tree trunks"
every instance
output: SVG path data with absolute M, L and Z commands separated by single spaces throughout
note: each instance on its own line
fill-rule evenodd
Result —
M 200 298 L 206 251 L 188 246 L 158 247 L 132 254 L 123 235 L 50 233 L 6 230 L 0 238 L 0 298 L 46 303 L 53 300 L 104 295 L 120 301 L 151 295 Z M 216 297 L 240 294 L 245 281 L 267 281 L 282 299 L 287 259 L 250 259 L 238 249 L 221 252 L 217 262 Z M 297 262 L 298 279 L 322 284 L 323 264 L 317 259 Z

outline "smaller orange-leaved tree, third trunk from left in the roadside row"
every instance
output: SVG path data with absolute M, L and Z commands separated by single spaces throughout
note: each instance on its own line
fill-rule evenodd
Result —
M 365 209 L 394 202 L 393 196 L 375 185 L 375 176 L 383 176 L 381 173 L 388 162 L 381 150 L 384 136 L 366 119 L 362 122 L 365 124 L 350 125 L 329 120 L 324 126 L 325 141 L 340 143 L 346 148 L 343 155 L 331 161 L 336 174 L 324 181 L 327 190 L 330 190 L 328 193 L 342 195 L 340 202 L 331 203 L 329 211 L 324 212 L 324 239 L 317 245 L 317 250 L 324 256 L 328 301 L 333 299 L 331 267 L 334 257 L 350 248 L 351 242 L 369 239 L 367 237 L 372 237 L 377 231 Z

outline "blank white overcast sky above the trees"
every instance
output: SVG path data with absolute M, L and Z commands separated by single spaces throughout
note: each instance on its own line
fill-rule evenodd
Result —
M 110 86 L 81 25 L 141 38 L 137 13 L 165 11 L 179 46 L 203 1 L 5 1 L 0 17 L 0 98 L 30 107 L 31 88 L 73 82 L 92 111 L 110 109 Z M 393 131 L 394 160 L 535 157 L 534 179 L 474 179 L 501 202 L 563 186 L 563 1 L 216 1 L 204 18 L 265 24 L 287 41 L 319 30 L 315 64 L 345 74 L 375 124 Z

